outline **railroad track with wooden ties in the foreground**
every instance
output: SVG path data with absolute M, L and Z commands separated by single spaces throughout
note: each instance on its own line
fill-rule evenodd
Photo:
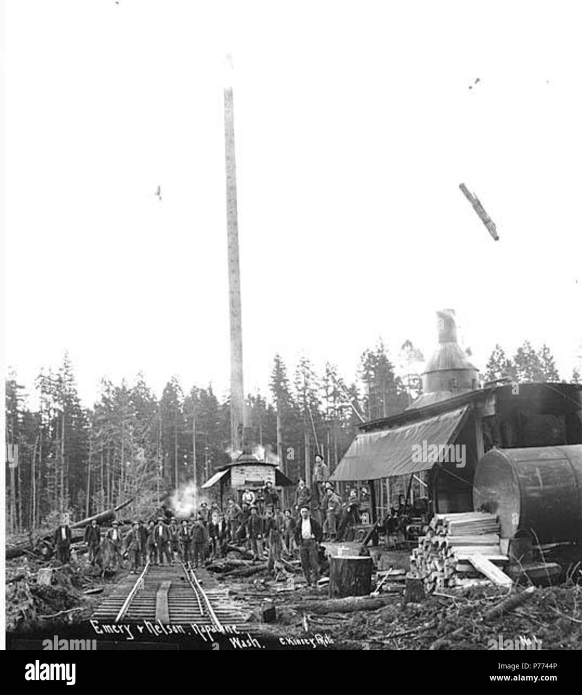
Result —
M 147 562 L 135 581 L 128 575 L 119 582 L 92 618 L 108 623 L 182 623 L 215 630 L 243 623 L 245 616 L 232 605 L 228 591 L 202 587 L 211 582 L 206 570 L 193 570 L 183 562 L 173 566 Z

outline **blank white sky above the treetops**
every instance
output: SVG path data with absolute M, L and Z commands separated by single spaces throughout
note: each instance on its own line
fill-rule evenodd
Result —
M 68 349 L 87 405 L 140 370 L 224 395 L 231 53 L 245 391 L 276 352 L 348 379 L 379 336 L 428 357 L 449 306 L 480 368 L 529 338 L 569 377 L 581 24 L 576 0 L 8 2 L 8 365 L 31 389 Z

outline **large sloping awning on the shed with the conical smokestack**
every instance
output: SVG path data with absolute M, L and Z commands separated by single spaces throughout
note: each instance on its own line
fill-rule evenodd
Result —
M 463 426 L 467 410 L 465 406 L 394 430 L 356 435 L 331 480 L 377 480 L 428 471 L 438 460 L 431 445 L 449 445 Z

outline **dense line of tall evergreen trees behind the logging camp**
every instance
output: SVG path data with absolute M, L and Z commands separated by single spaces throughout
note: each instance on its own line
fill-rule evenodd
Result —
M 549 350 L 544 346 L 538 354 L 528 346 L 506 360 L 497 345 L 485 378 L 507 373 L 558 380 Z M 305 358 L 290 375 L 276 355 L 268 395 L 247 396 L 260 455 L 278 457 L 292 480 L 309 473 L 317 452 L 333 470 L 362 420 L 397 414 L 420 395 L 410 365 L 424 357 L 410 341 L 398 357 L 397 375 L 379 341 L 363 352 L 356 379 L 347 382 L 331 364 L 317 373 Z M 103 379 L 99 400 L 85 408 L 65 354 L 58 370 L 42 371 L 35 390 L 39 407 L 31 411 L 17 375 L 6 379 L 8 532 L 39 528 L 63 512 L 78 520 L 130 498 L 132 514 L 146 513 L 181 484 L 194 480 L 199 486 L 231 460 L 228 398 L 219 400 L 212 386 L 185 393 L 172 377 L 158 399 L 142 375 L 132 386 Z

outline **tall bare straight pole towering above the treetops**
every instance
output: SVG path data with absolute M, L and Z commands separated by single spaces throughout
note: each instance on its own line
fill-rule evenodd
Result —
M 227 56 L 232 69 L 230 56 Z M 232 76 L 233 71 L 230 71 Z M 240 303 L 240 261 L 238 253 L 238 213 L 236 199 L 236 160 L 233 88 L 224 88 L 224 143 L 226 151 L 226 229 L 228 235 L 228 286 L 231 317 L 231 446 L 242 450 L 244 427 L 244 388 L 242 382 L 242 309 Z

